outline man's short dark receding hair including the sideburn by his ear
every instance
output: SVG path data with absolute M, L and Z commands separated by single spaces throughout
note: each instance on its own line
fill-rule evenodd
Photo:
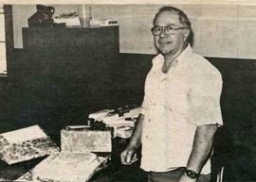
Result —
M 174 12 L 178 15 L 178 19 L 179 19 L 179 23 L 181 25 L 185 25 L 186 27 L 188 27 L 188 29 L 190 30 L 190 35 L 187 38 L 187 41 L 191 43 L 191 45 L 193 44 L 193 32 L 192 32 L 192 24 L 190 19 L 188 18 L 188 16 L 179 8 L 174 8 L 174 7 L 162 7 L 159 8 L 158 12 L 155 14 L 155 18 L 153 20 L 153 25 L 155 25 L 155 21 L 157 16 L 164 11 L 171 11 Z

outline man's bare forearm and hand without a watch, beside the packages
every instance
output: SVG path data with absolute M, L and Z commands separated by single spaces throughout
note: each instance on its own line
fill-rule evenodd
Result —
M 121 163 L 124 165 L 130 165 L 137 161 L 137 147 L 141 144 L 141 134 L 143 127 L 144 115 L 139 114 L 137 123 L 135 125 L 133 136 L 126 147 L 126 149 L 120 154 Z

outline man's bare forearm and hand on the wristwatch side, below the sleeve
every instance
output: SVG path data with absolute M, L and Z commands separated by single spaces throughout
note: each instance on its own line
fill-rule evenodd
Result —
M 218 126 L 215 124 L 197 126 L 193 139 L 192 153 L 187 164 L 188 170 L 192 170 L 197 174 L 201 171 L 206 160 L 210 157 L 212 142 L 217 129 Z M 183 174 L 179 182 L 183 181 L 196 181 L 196 179 L 191 179 L 187 174 Z

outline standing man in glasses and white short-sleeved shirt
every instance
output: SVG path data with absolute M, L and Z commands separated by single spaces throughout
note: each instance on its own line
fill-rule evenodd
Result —
M 222 125 L 221 74 L 192 52 L 187 15 L 160 8 L 152 33 L 159 54 L 145 82 L 142 112 L 121 162 L 137 160 L 151 182 L 208 182 L 214 134 Z

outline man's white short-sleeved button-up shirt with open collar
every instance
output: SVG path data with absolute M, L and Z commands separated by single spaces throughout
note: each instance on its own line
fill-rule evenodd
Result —
M 164 58 L 157 55 L 146 78 L 140 166 L 145 171 L 167 172 L 186 167 L 196 127 L 223 124 L 219 71 L 193 53 L 190 45 L 174 61 L 164 74 Z M 210 160 L 201 174 L 210 174 Z

